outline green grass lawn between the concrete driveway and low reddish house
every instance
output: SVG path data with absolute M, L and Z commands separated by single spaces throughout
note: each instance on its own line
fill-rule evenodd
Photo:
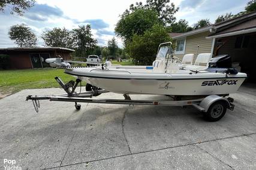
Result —
M 133 65 L 131 61 L 111 62 L 124 66 Z M 22 89 L 59 87 L 55 81 L 56 76 L 64 82 L 76 79 L 65 74 L 63 69 L 0 70 L 0 94 L 13 94 Z M 85 82 L 82 82 L 82 85 L 85 85 Z

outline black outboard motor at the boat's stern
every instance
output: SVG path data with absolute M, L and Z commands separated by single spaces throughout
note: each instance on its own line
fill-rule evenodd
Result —
M 209 68 L 231 68 L 231 57 L 229 55 L 218 55 L 209 61 Z

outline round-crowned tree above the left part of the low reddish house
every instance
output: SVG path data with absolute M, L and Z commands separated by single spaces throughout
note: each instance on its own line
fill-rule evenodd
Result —
M 37 36 L 25 24 L 11 26 L 8 34 L 19 47 L 35 47 L 37 45 Z

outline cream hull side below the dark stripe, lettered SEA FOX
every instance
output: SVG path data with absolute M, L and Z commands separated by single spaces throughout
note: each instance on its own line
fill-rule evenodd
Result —
M 81 78 L 81 77 L 80 77 Z M 83 81 L 121 94 L 211 95 L 235 93 L 245 78 L 139 80 L 86 78 Z

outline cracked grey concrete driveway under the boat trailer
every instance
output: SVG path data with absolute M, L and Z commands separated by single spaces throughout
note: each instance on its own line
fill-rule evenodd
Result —
M 234 111 L 206 122 L 193 107 L 126 106 L 41 101 L 28 89 L 0 100 L 0 168 L 22 169 L 256 169 L 256 88 L 231 95 Z M 122 98 L 102 94 L 98 98 Z M 134 99 L 162 98 L 139 95 Z

